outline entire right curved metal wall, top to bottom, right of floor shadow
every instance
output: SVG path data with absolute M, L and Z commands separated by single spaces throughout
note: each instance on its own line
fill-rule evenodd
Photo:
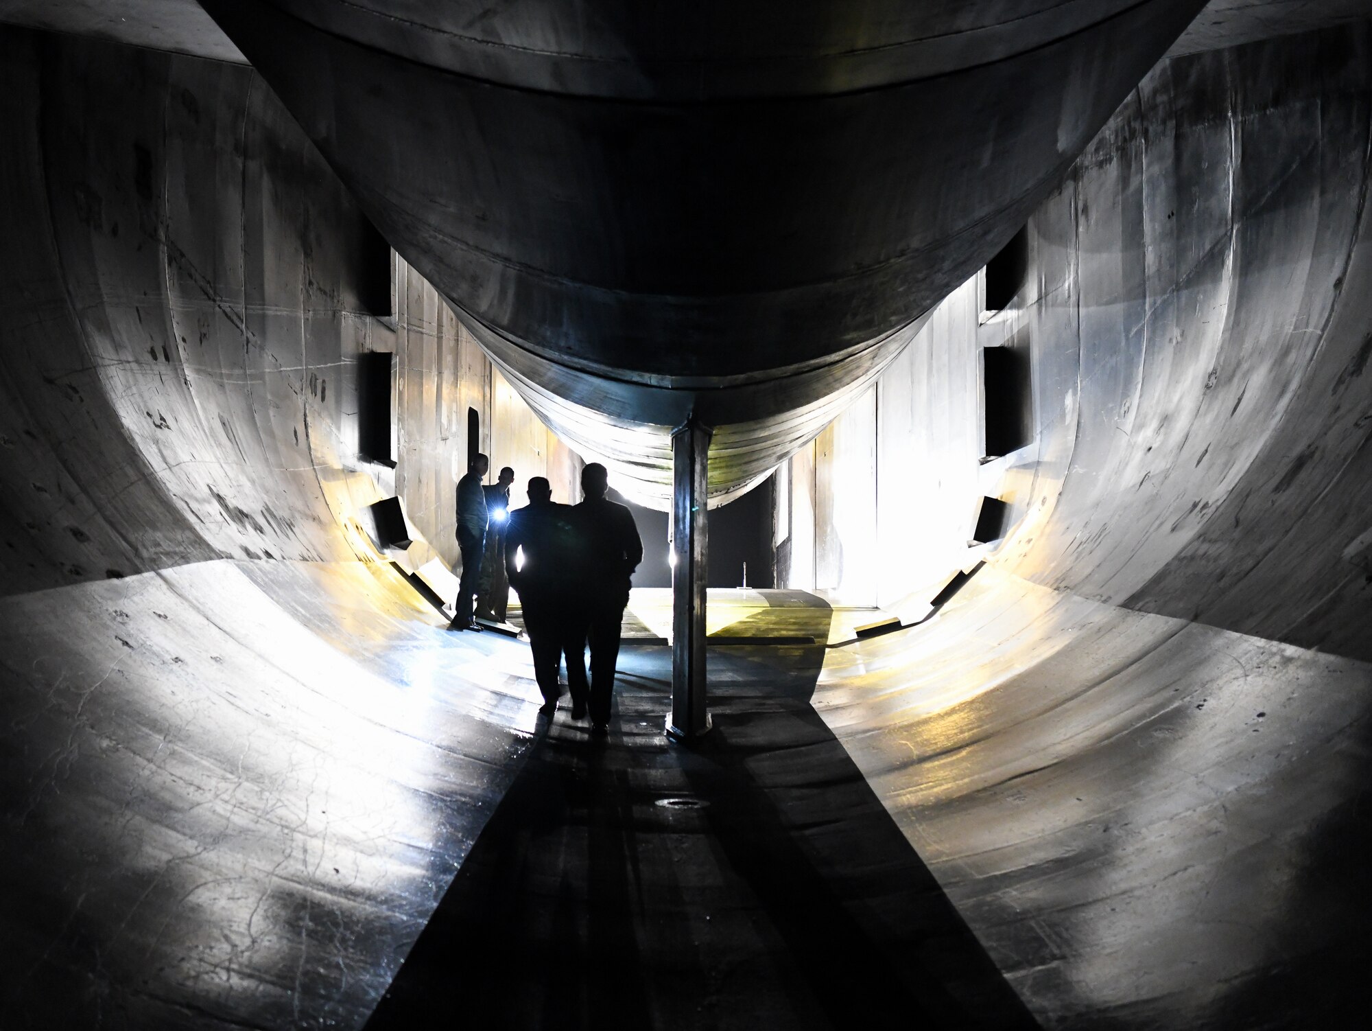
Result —
M 838 597 L 919 618 L 989 561 L 831 651 L 815 704 L 1050 1027 L 1360 1005 L 1369 45 L 1161 65 L 1030 218 L 1011 306 L 955 291 L 790 464 Z M 985 465 L 981 346 L 1029 351 L 1037 427 Z M 970 549 L 982 493 L 1014 526 Z

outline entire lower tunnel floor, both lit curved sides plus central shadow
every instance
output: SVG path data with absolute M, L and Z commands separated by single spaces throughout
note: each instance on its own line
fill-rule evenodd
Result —
M 711 592 L 686 750 L 661 601 L 597 741 L 388 566 L 0 599 L 0 1027 L 1356 1026 L 1372 667 L 992 567 L 856 642 Z

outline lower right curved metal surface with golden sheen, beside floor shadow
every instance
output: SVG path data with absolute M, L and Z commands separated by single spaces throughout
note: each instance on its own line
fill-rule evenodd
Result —
M 1044 1027 L 1358 1023 L 1368 663 L 986 567 L 815 707 Z

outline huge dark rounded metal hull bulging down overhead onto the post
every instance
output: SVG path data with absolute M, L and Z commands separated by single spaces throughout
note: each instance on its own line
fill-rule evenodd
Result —
M 900 335 L 1022 224 L 1199 5 L 1054 7 L 1039 45 L 992 47 L 981 63 L 944 8 L 922 7 L 908 25 L 877 18 L 855 40 L 837 8 L 804 5 L 785 44 L 794 60 L 716 89 L 712 70 L 740 45 L 731 33 L 664 34 L 638 5 L 595 8 L 600 21 L 575 32 L 536 5 L 491 11 L 483 33 L 550 33 L 553 49 L 514 45 L 514 63 L 473 74 L 417 48 L 451 43 L 451 26 L 420 22 L 435 4 L 369 33 L 354 21 L 361 8 L 332 0 L 206 1 L 545 421 L 575 428 L 583 456 L 661 497 L 671 470 L 653 456 L 667 431 L 691 413 L 727 428 L 712 445 L 716 500 L 812 438 L 825 419 L 811 406 L 853 397 L 899 353 Z M 981 16 L 1004 27 L 1036 10 L 993 4 Z M 822 67 L 855 43 L 890 56 L 919 30 L 925 56 L 873 88 L 829 71 L 797 86 L 796 60 Z M 694 92 L 675 81 L 683 38 L 704 84 Z M 605 58 L 611 43 L 627 80 L 589 85 L 557 70 L 561 55 Z M 814 417 L 797 421 L 805 409 Z M 620 459 L 626 424 L 637 439 Z M 746 463 L 720 449 L 730 437 Z

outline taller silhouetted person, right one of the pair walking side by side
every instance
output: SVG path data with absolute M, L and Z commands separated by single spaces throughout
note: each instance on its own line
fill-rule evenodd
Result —
M 620 623 L 628 604 L 630 577 L 643 560 L 643 542 L 630 511 L 605 497 L 609 478 L 605 467 L 591 463 L 582 470 L 586 500 L 572 508 L 578 535 L 575 568 L 580 581 L 580 604 L 575 610 L 575 660 L 568 655 L 567 682 L 572 688 L 572 718 L 582 671 L 582 649 L 591 647 L 590 717 L 597 733 L 609 723 L 611 695 L 615 691 L 615 663 L 619 660 Z M 572 669 L 572 667 L 578 669 Z

